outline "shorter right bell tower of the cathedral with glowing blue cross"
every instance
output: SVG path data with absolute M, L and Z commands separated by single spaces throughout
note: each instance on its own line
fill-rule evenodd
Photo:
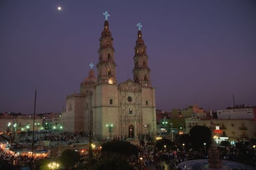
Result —
M 150 68 L 148 68 L 147 47 L 142 39 L 142 25 L 137 23 L 139 27 L 138 38 L 136 41 L 135 55 L 134 55 L 134 82 L 141 84 L 143 87 L 151 87 L 150 83 Z

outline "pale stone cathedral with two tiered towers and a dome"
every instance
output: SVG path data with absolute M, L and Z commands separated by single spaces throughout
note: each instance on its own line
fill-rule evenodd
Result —
M 134 47 L 134 78 L 117 83 L 114 46 L 109 30 L 108 12 L 100 36 L 97 76 L 90 64 L 87 78 L 80 84 L 80 92 L 67 95 L 66 110 L 60 123 L 64 131 L 95 137 L 134 138 L 156 133 L 155 88 L 150 83 L 147 47 L 139 27 Z

